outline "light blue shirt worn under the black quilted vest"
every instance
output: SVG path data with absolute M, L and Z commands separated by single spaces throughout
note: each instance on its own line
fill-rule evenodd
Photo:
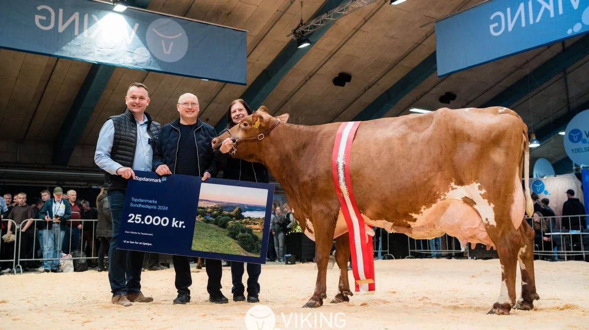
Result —
M 137 124 L 137 142 L 135 147 L 135 158 L 133 160 L 133 170 L 151 172 L 151 164 L 153 161 L 153 149 L 149 143 L 150 136 L 147 134 L 147 117 L 143 115 L 143 121 L 139 123 L 135 118 Z M 114 123 L 112 120 L 107 120 L 98 135 L 98 143 L 96 152 L 94 153 L 94 162 L 101 169 L 110 174 L 117 174 L 117 170 L 123 165 L 117 163 L 111 158 L 112 143 L 114 141 Z M 153 141 L 155 143 L 155 141 Z

